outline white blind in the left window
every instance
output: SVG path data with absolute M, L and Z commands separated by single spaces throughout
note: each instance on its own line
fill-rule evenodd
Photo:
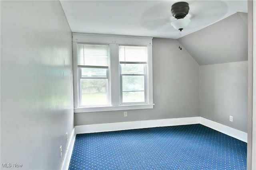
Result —
M 77 45 L 78 67 L 108 68 L 109 62 L 108 45 Z

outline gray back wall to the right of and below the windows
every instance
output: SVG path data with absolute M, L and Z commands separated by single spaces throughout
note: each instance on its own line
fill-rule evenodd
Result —
M 199 65 L 174 39 L 153 39 L 153 109 L 75 113 L 75 125 L 199 116 Z

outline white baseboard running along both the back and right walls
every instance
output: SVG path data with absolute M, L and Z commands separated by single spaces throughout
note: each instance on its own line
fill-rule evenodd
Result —
M 118 123 L 102 123 L 93 125 L 77 125 L 75 126 L 76 134 L 81 133 L 97 133 L 108 131 L 121 131 L 129 129 L 142 129 L 150 127 L 164 127 L 164 126 L 177 126 L 177 125 L 191 125 L 198 124 L 204 125 L 241 141 L 247 143 L 247 133 L 222 125 L 220 123 L 205 119 L 204 117 L 184 117 L 173 119 L 158 119 L 158 120 L 146 120 L 146 121 L 129 121 Z

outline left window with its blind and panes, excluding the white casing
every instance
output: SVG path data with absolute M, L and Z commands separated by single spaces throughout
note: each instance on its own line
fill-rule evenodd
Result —
M 108 61 L 108 45 L 77 45 L 79 106 L 108 105 Z

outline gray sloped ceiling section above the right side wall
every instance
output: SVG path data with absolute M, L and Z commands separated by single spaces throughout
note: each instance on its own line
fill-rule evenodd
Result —
M 179 41 L 200 65 L 246 61 L 247 27 L 247 13 L 237 12 Z

